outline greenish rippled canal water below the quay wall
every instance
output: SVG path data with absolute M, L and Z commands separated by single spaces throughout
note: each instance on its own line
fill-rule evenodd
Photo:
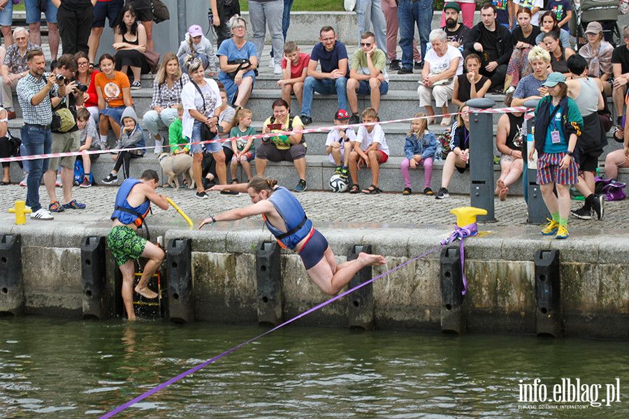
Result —
M 266 330 L 0 318 L 0 418 L 99 418 Z M 114 417 L 621 418 L 628 372 L 628 341 L 289 325 Z

